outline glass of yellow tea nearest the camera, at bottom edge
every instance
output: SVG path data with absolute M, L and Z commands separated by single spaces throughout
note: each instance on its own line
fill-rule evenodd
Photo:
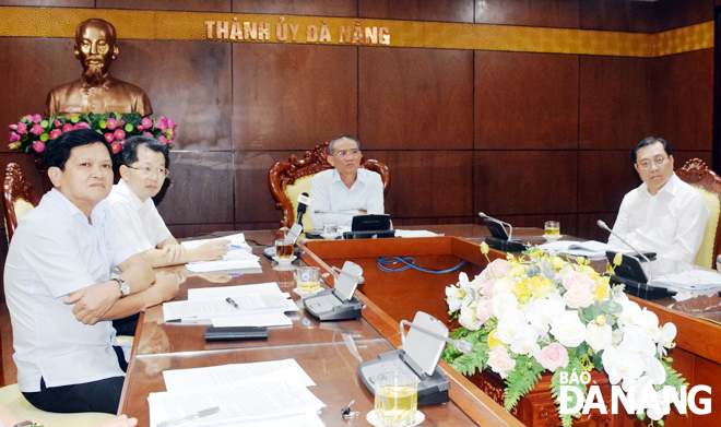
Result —
M 418 408 L 418 380 L 411 372 L 376 376 L 376 419 L 383 427 L 406 427 L 415 422 Z

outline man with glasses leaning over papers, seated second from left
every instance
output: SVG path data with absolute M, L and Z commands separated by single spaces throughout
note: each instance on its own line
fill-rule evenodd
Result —
M 152 266 L 223 259 L 231 240 L 209 241 L 186 250 L 173 237 L 151 199 L 161 191 L 168 175 L 168 150 L 150 137 L 128 138 L 120 151 L 120 181 L 103 202 L 128 240 Z

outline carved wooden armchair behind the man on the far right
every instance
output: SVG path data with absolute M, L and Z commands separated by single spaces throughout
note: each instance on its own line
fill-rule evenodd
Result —
M 709 206 L 711 215 L 706 224 L 704 240 L 696 254 L 696 265 L 707 269 L 716 266 L 716 256 L 719 253 L 719 222 L 721 221 L 721 177 L 709 169 L 699 158 L 692 158 L 684 167 L 676 170 L 676 175 L 684 182 L 694 186 Z

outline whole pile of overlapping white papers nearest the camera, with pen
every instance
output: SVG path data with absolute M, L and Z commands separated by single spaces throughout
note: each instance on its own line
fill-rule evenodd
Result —
M 308 390 L 316 383 L 294 359 L 166 370 L 163 377 L 167 391 L 147 396 L 152 427 L 180 419 L 190 419 L 187 427 L 323 426 L 317 412 L 326 404 Z

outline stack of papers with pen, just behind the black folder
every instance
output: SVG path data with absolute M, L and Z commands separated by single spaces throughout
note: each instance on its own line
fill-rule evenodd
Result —
M 291 319 L 283 315 L 286 311 L 298 311 L 298 306 L 274 282 L 189 289 L 187 301 L 163 304 L 166 322 L 210 320 L 216 327 L 291 324 Z

